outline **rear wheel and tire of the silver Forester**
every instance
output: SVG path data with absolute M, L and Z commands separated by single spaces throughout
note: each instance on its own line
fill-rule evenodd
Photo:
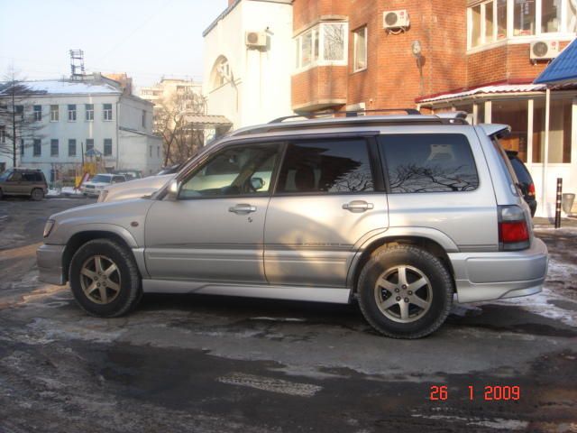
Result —
M 451 274 L 432 253 L 408 244 L 384 245 L 362 268 L 359 306 L 380 334 L 420 338 L 444 323 L 453 287 Z

